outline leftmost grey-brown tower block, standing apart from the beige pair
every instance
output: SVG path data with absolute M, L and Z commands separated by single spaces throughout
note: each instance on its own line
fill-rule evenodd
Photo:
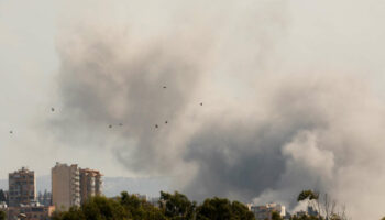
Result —
M 22 167 L 9 174 L 9 206 L 18 207 L 36 200 L 35 173 Z

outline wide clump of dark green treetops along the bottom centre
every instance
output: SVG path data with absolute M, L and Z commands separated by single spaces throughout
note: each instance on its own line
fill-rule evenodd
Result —
M 201 205 L 179 193 L 161 193 L 158 206 L 123 191 L 119 197 L 94 197 L 79 208 L 55 212 L 53 220 L 254 220 L 239 201 L 206 199 Z

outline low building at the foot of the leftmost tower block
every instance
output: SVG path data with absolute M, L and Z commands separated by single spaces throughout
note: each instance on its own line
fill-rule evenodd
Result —
M 38 202 L 30 205 L 21 205 L 20 207 L 9 207 L 7 216 L 9 220 L 18 219 L 18 217 L 25 216 L 28 220 L 50 220 L 52 213 L 55 211 L 54 206 L 43 206 Z

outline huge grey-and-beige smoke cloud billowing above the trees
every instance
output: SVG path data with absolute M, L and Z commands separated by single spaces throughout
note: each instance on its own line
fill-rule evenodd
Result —
M 99 2 L 61 32 L 59 139 L 195 199 L 293 208 L 314 188 L 354 219 L 383 215 L 385 105 L 355 42 L 298 30 L 286 1 L 162 2 Z

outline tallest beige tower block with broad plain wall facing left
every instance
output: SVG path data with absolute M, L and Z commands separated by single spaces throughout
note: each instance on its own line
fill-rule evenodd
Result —
M 57 210 L 80 206 L 80 172 L 77 164 L 56 163 L 52 168 L 52 204 Z

